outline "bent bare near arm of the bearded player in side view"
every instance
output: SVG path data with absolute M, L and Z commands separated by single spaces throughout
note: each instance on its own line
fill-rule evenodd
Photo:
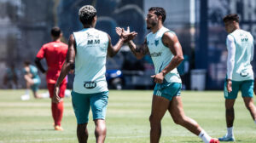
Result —
M 184 59 L 182 47 L 175 34 L 172 34 L 171 32 L 166 32 L 162 37 L 162 42 L 166 47 L 171 50 L 173 58 L 171 62 L 160 73 L 151 76 L 154 77 L 155 83 L 163 83 L 166 74 L 176 68 Z

